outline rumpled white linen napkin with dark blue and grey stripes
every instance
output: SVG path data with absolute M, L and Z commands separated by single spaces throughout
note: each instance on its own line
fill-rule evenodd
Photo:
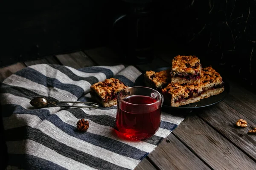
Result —
M 29 102 L 37 96 L 50 100 L 92 101 L 88 93 L 90 85 L 114 77 L 133 86 L 140 74 L 133 66 L 125 68 L 123 65 L 74 69 L 39 64 L 5 79 L 0 99 L 9 155 L 7 168 L 134 169 L 183 118 L 162 113 L 160 129 L 154 136 L 131 142 L 119 139 L 114 132 L 116 106 L 95 110 L 34 109 Z M 82 118 L 90 124 L 83 133 L 76 130 L 76 123 Z

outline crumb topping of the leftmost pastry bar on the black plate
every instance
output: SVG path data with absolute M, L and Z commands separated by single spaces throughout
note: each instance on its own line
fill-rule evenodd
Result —
M 167 70 L 160 72 L 146 71 L 146 76 L 154 82 L 156 87 L 161 87 L 163 84 L 167 84 L 169 80 L 169 72 Z

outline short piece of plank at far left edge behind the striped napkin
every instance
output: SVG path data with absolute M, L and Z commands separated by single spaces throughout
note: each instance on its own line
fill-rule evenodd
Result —
M 15 72 L 17 72 L 25 67 L 26 66 L 23 63 L 18 62 L 16 64 L 0 68 L 0 81 L 2 82 L 7 77 L 11 76 Z

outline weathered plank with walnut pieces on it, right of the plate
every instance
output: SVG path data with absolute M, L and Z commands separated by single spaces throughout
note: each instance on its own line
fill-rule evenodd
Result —
M 256 161 L 256 136 L 247 134 L 249 129 L 256 127 L 256 114 L 251 114 L 246 110 L 239 113 L 225 102 L 220 102 L 214 107 L 204 109 L 198 116 Z M 238 119 L 245 119 L 248 127 L 236 127 L 235 123 Z

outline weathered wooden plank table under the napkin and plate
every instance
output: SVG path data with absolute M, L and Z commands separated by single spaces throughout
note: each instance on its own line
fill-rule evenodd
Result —
M 1 68 L 0 78 L 3 80 L 26 66 L 40 63 L 82 68 L 122 64 L 119 61 L 109 48 L 102 47 L 17 63 Z M 135 66 L 143 72 L 170 66 L 170 62 L 168 56 L 158 55 L 152 64 Z M 247 134 L 256 127 L 256 95 L 232 81 L 230 86 L 230 94 L 224 101 L 188 113 L 136 170 L 256 170 L 256 135 Z M 240 118 L 247 120 L 247 128 L 234 126 Z

